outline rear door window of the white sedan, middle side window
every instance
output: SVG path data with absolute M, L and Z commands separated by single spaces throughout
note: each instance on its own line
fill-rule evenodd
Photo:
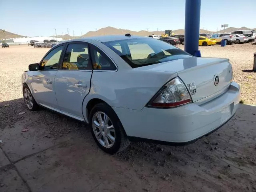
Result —
M 91 70 L 88 44 L 69 44 L 64 55 L 62 70 Z

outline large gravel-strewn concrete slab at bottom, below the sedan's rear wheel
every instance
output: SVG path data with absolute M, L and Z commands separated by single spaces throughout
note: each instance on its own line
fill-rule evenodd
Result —
M 103 153 L 84 138 L 48 149 L 15 166 L 36 192 L 127 191 L 127 186 L 130 190 L 140 186 L 135 172 L 128 170 L 129 164 Z

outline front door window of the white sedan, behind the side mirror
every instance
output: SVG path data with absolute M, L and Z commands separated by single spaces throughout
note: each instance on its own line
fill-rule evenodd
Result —
M 58 64 L 60 60 L 60 55 L 62 53 L 64 46 L 59 46 L 49 52 L 41 63 L 41 70 L 55 70 L 58 69 Z

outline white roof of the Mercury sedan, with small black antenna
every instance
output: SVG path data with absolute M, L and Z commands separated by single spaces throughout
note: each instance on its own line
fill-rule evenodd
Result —
M 144 36 L 125 36 L 125 35 L 107 35 L 107 36 L 94 36 L 94 37 L 86 37 L 80 39 L 72 39 L 67 40 L 65 42 L 72 42 L 72 41 L 86 41 L 86 40 L 96 40 L 98 42 L 109 42 L 109 41 L 117 41 L 117 40 L 126 40 L 126 39 L 138 39 L 138 38 L 147 38 Z

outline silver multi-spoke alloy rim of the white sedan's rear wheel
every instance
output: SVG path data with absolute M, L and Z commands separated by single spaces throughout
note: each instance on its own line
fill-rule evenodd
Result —
M 96 112 L 92 117 L 92 129 L 98 142 L 110 148 L 116 140 L 115 128 L 110 118 L 104 112 Z

